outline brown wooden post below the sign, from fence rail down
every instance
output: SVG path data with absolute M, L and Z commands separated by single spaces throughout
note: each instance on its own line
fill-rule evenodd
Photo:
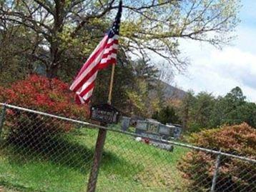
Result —
M 92 170 L 89 176 L 89 182 L 87 185 L 87 192 L 94 192 L 97 185 L 97 178 L 99 173 L 99 163 L 102 159 L 102 153 L 104 148 L 105 139 L 107 136 L 107 130 L 99 128 L 97 143 L 94 151 L 94 160 L 92 164 Z

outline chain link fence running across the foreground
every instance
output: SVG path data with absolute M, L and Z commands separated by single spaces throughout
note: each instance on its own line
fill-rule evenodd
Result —
M 104 127 L 4 104 L 0 110 L 0 191 L 87 191 Z M 97 191 L 256 191 L 255 157 L 104 129 Z

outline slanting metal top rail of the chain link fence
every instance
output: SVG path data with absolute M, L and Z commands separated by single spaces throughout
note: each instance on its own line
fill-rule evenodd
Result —
M 39 115 L 42 115 L 42 116 L 49 116 L 51 118 L 58 118 L 58 119 L 61 119 L 61 120 L 64 120 L 64 121 L 70 121 L 70 122 L 73 122 L 73 123 L 79 123 L 79 124 L 82 124 L 84 126 L 88 126 L 89 128 L 102 128 L 102 129 L 105 129 L 105 130 L 108 130 L 108 131 L 113 131 L 113 132 L 117 132 L 117 133 L 124 133 L 124 134 L 129 135 L 129 136 L 141 137 L 141 135 L 136 134 L 136 133 L 121 131 L 121 130 L 115 130 L 115 129 L 112 129 L 112 128 L 107 128 L 105 126 L 99 126 L 97 124 L 93 124 L 93 123 L 89 123 L 89 122 L 85 122 L 85 121 L 79 121 L 79 120 L 75 120 L 75 119 L 72 119 L 72 118 L 67 118 L 67 117 L 64 117 L 64 116 L 56 116 L 56 115 L 52 115 L 50 113 L 35 111 L 35 110 L 32 110 L 32 109 L 23 108 L 23 107 L 20 107 L 20 106 L 13 106 L 13 105 L 6 104 L 6 103 L 0 103 L 0 106 L 6 106 L 8 108 L 15 108 L 15 109 L 18 109 L 18 110 L 21 110 L 21 111 L 36 113 L 36 114 L 39 114 Z M 222 151 L 216 151 L 216 150 L 212 150 L 212 149 L 208 149 L 208 148 L 202 148 L 202 147 L 199 147 L 199 146 L 192 146 L 192 145 L 189 145 L 187 143 L 181 143 L 181 142 L 177 142 L 177 141 L 167 141 L 167 140 L 164 140 L 164 139 L 160 139 L 160 140 L 159 139 L 154 139 L 154 141 L 159 141 L 161 143 L 172 144 L 172 145 L 175 145 L 175 146 L 182 146 L 182 147 L 185 147 L 185 148 L 191 148 L 191 149 L 194 149 L 194 150 L 197 150 L 197 151 L 205 151 L 205 152 L 208 152 L 208 153 L 220 154 L 221 156 L 229 156 L 229 157 L 232 157 L 232 158 L 238 158 L 242 161 L 248 161 L 250 163 L 256 163 L 256 160 L 252 159 L 252 158 L 246 158 L 246 157 L 243 157 L 243 156 L 236 156 L 236 155 L 232 155 L 230 153 L 225 153 L 225 152 L 222 152 Z

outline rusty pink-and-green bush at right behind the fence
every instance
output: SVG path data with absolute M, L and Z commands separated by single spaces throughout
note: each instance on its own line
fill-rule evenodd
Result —
M 223 126 L 192 134 L 189 141 L 195 146 L 220 150 L 237 156 L 256 159 L 256 130 L 242 123 Z M 190 151 L 179 163 L 179 170 L 191 182 L 192 191 L 210 188 L 215 170 L 216 155 Z M 240 191 L 256 188 L 256 166 L 237 158 L 221 156 L 215 191 Z

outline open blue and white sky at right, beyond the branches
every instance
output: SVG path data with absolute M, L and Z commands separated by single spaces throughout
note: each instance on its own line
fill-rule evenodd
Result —
M 182 51 L 191 64 L 174 84 L 184 91 L 207 91 L 224 96 L 240 86 L 247 101 L 256 102 L 256 1 L 242 0 L 241 22 L 235 41 L 222 50 L 197 42 L 182 42 Z

